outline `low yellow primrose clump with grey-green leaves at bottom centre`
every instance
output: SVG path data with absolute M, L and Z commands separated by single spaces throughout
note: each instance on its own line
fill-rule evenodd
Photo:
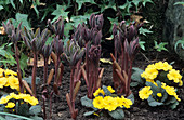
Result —
M 93 95 L 93 99 L 87 96 L 81 98 L 81 104 L 83 106 L 93 109 L 93 111 L 84 112 L 84 116 L 98 116 L 103 110 L 107 110 L 114 119 L 123 119 L 123 108 L 130 108 L 134 103 L 133 94 L 127 98 L 123 95 L 119 97 L 115 94 L 115 90 L 111 86 L 103 85 L 102 89 L 98 88 Z

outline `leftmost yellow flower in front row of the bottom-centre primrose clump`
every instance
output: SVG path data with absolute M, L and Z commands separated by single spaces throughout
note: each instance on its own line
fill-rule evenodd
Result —
M 104 108 L 104 98 L 102 96 L 97 96 L 93 99 L 93 106 L 97 109 Z

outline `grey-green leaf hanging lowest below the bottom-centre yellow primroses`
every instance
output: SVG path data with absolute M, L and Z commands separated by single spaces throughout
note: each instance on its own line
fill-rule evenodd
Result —
M 114 118 L 114 119 L 123 119 L 124 118 L 124 112 L 122 109 L 118 108 L 114 111 L 108 111 L 108 114 Z

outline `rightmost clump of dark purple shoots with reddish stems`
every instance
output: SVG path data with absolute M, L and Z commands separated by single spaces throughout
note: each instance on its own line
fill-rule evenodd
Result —
M 139 50 L 137 29 L 143 24 L 126 25 L 126 21 L 120 23 L 120 26 L 114 25 L 113 35 L 115 40 L 115 56 L 113 54 L 113 80 L 114 86 L 118 93 L 129 96 L 132 63 Z

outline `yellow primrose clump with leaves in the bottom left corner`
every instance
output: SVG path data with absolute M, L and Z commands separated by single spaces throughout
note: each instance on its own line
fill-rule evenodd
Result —
M 38 105 L 38 99 L 30 94 L 15 94 L 2 96 L 0 99 L 1 108 L 4 112 L 16 114 L 30 118 L 39 118 L 41 107 Z

